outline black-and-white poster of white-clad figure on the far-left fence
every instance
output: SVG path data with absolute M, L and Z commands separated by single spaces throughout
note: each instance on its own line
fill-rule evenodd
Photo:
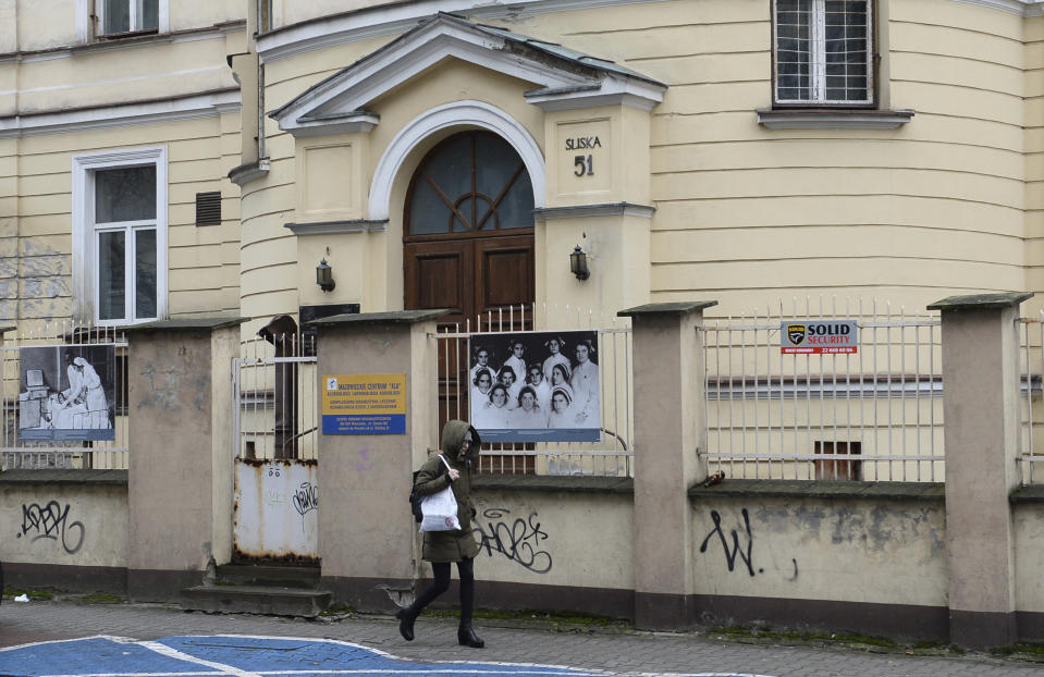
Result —
M 114 440 L 115 346 L 21 348 L 22 440 Z

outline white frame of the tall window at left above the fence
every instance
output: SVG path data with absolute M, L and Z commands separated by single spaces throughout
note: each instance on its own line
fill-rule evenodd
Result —
M 135 317 L 134 238 L 126 241 L 126 303 L 131 317 L 115 320 L 98 318 L 98 232 L 95 225 L 95 172 L 128 167 L 156 167 L 156 317 Z M 73 157 L 73 317 L 98 327 L 127 325 L 167 318 L 168 296 L 168 169 L 167 147 L 126 148 Z M 135 222 L 122 226 L 133 232 Z M 151 221 L 149 222 L 151 223 Z

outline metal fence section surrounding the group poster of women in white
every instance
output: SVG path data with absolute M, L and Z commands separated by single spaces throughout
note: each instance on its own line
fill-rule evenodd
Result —
M 634 475 L 634 407 L 631 403 L 631 332 L 629 321 L 589 310 L 548 305 L 505 307 L 442 325 L 431 338 L 439 354 L 439 421 L 432 448 L 449 419 L 470 420 L 470 341 L 475 334 L 533 332 L 598 332 L 599 430 L 598 442 L 541 442 L 483 444 L 479 471 L 484 473 Z

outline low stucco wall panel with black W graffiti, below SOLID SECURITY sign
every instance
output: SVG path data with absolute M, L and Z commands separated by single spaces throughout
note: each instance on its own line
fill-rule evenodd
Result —
M 692 509 L 698 594 L 946 606 L 941 500 L 752 494 Z

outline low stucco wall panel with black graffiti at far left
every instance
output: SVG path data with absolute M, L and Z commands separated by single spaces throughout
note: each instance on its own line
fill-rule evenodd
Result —
M 20 564 L 126 567 L 126 482 L 0 482 L 0 533 L 8 570 Z

